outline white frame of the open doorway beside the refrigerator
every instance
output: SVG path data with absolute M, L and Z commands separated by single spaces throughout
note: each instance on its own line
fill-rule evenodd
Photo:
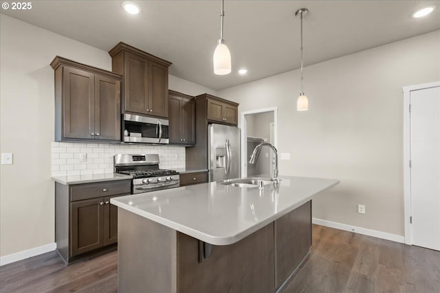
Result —
M 248 121 L 246 121 L 246 115 L 259 114 L 259 113 L 274 113 L 274 147 L 278 149 L 278 107 L 263 108 L 258 110 L 250 110 L 240 113 L 240 128 L 241 128 L 241 177 L 248 176 Z

